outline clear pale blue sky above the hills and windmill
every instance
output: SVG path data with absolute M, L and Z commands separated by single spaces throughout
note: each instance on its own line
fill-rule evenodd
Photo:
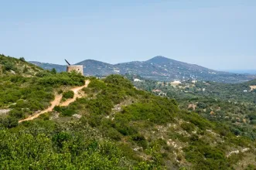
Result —
M 166 56 L 256 70 L 255 0 L 0 0 L 0 53 L 106 63 Z

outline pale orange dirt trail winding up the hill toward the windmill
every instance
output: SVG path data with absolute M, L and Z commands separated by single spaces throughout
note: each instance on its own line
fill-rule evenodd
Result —
M 30 117 L 27 117 L 26 119 L 20 120 L 19 123 L 21 123 L 22 121 L 31 121 L 33 119 L 35 119 L 36 117 L 39 117 L 41 114 L 45 114 L 49 111 L 53 111 L 53 108 L 56 106 L 68 106 L 69 104 L 71 104 L 72 102 L 74 102 L 77 98 L 81 98 L 83 96 L 81 96 L 78 92 L 79 90 L 83 89 L 84 87 L 87 87 L 88 84 L 90 83 L 90 80 L 86 80 L 84 86 L 82 87 L 74 87 L 73 89 L 70 89 L 73 91 L 74 96 L 72 99 L 68 99 L 65 102 L 63 102 L 62 104 L 60 104 L 60 100 L 62 98 L 62 95 L 56 95 L 55 99 L 51 102 L 51 106 L 48 107 L 46 110 L 40 111 L 39 113 L 33 114 Z

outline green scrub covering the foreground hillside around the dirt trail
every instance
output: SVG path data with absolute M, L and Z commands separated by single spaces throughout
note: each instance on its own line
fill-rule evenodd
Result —
M 123 76 L 9 72 L 0 80 L 0 109 L 10 109 L 1 116 L 2 169 L 255 168 L 253 138 L 179 107 L 172 97 L 138 90 Z M 90 83 L 84 97 L 17 123 L 48 107 L 56 93 L 71 97 L 70 87 L 85 79 Z

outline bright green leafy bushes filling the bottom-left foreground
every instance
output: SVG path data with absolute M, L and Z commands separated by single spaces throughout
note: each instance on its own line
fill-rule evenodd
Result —
M 113 142 L 100 141 L 94 131 L 49 121 L 28 128 L 0 131 L 2 169 L 128 169 L 136 168 Z M 40 131 L 35 131 L 40 129 Z M 79 131 L 79 133 L 77 133 Z M 36 133 L 35 133 L 36 132 Z

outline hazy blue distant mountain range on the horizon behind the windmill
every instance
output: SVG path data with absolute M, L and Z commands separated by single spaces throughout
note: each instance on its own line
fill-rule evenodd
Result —
M 35 62 L 33 62 L 35 63 Z M 44 69 L 64 70 L 65 66 L 51 65 L 49 63 L 35 63 Z M 117 74 L 138 74 L 148 79 L 170 81 L 170 80 L 206 80 L 223 83 L 239 83 L 253 80 L 256 76 L 227 73 L 222 71 L 210 70 L 203 66 L 183 63 L 164 56 L 155 56 L 147 61 L 133 61 L 128 63 L 109 64 L 102 63 L 93 59 L 87 59 L 80 63 L 84 65 L 85 75 L 107 76 Z

